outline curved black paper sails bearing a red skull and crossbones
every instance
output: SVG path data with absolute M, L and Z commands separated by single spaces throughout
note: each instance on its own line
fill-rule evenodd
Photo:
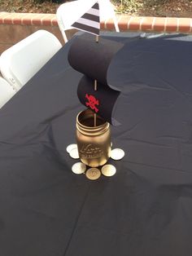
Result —
M 94 36 L 83 34 L 74 39 L 68 53 L 72 68 L 85 74 L 77 90 L 81 104 L 114 126 L 119 124 L 112 118 L 112 112 L 120 91 L 107 84 L 107 69 L 122 46 L 119 42 L 103 38 L 95 42 Z M 98 82 L 97 90 L 94 90 L 94 80 Z

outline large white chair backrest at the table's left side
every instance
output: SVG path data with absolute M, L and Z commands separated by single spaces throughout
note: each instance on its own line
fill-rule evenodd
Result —
M 11 83 L 15 90 L 20 90 L 61 47 L 55 35 L 46 30 L 38 30 L 2 52 L 2 77 Z

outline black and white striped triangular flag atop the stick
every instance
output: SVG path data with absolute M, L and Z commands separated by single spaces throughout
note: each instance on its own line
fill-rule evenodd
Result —
M 86 11 L 79 20 L 76 20 L 76 22 L 72 24 L 72 27 L 99 35 L 100 19 L 98 2 L 95 2 L 93 7 Z

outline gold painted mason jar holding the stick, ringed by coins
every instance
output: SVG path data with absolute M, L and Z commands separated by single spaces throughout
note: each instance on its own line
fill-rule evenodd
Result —
M 90 109 L 82 111 L 76 117 L 76 143 L 85 165 L 103 166 L 111 152 L 110 124 L 97 115 L 94 126 L 94 113 Z

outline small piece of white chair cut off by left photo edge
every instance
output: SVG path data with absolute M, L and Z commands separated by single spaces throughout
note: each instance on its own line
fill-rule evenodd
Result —
M 7 103 L 16 91 L 13 87 L 2 77 L 0 77 L 0 108 Z

